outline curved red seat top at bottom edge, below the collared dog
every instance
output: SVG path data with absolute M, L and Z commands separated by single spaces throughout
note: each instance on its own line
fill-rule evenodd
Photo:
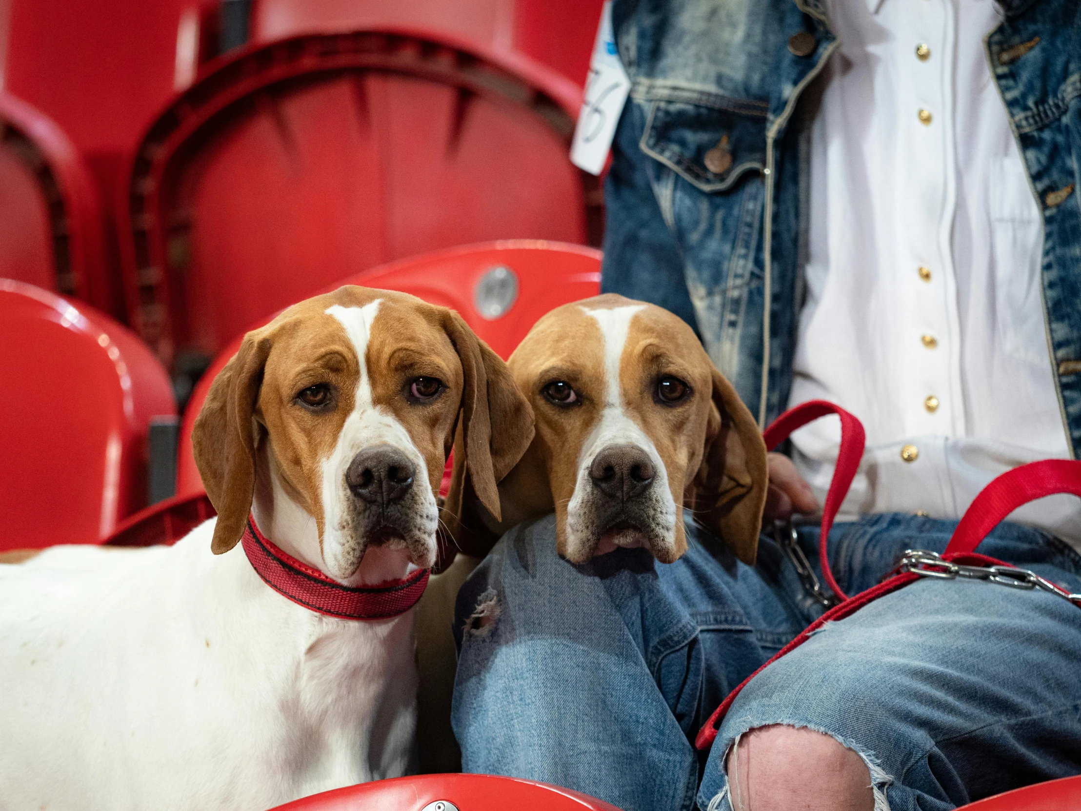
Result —
M 421 774 L 305 797 L 273 811 L 619 811 L 570 788 L 486 774 Z

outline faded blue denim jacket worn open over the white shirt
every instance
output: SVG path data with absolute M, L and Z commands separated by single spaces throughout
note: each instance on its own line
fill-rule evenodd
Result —
M 1081 0 L 999 0 L 986 40 L 1044 222 L 1043 306 L 1081 455 Z M 614 0 L 630 99 L 605 184 L 602 289 L 696 325 L 764 425 L 788 401 L 806 256 L 823 0 Z M 801 103 L 802 102 L 802 103 Z

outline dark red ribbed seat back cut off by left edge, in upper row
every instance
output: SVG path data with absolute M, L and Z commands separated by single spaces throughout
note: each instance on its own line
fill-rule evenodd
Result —
M 108 308 L 97 188 L 44 115 L 0 92 L 0 277 Z

